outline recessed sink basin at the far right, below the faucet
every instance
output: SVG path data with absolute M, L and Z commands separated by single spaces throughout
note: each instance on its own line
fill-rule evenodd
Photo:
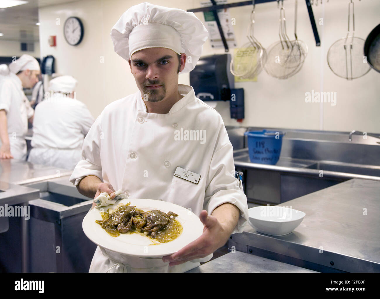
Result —
M 380 177 L 380 167 L 373 165 L 358 165 L 349 163 L 333 163 L 330 161 L 319 161 L 305 168 Z

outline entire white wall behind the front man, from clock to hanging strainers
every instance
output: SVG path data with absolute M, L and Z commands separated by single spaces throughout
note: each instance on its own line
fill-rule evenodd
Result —
M 82 0 L 39 10 L 41 57 L 54 55 L 57 72 L 78 79 L 77 98 L 86 103 L 95 117 L 108 103 L 138 91 L 128 62 L 113 51 L 109 33 L 125 10 L 141 2 Z M 152 4 L 183 10 L 198 8 L 200 2 L 150 0 Z M 370 70 L 362 78 L 347 81 L 334 75 L 326 61 L 329 46 L 347 32 L 348 0 L 313 6 L 321 47 L 315 46 L 305 2 L 298 2 L 297 34 L 309 47 L 305 63 L 299 73 L 287 80 L 278 80 L 262 72 L 257 82 L 236 83 L 236 88 L 245 90 L 245 119 L 241 125 L 380 132 L 380 74 Z M 380 2 L 354 2 L 355 35 L 365 39 L 380 23 Z M 294 1 L 285 1 L 284 7 L 288 35 L 292 35 Z M 247 41 L 245 30 L 249 24 L 250 10 L 249 6 L 230 8 L 231 17 L 236 18 L 234 31 L 238 46 Z M 84 39 L 78 46 L 68 45 L 63 37 L 63 24 L 70 16 L 78 16 L 84 23 Z M 204 21 L 203 13 L 196 13 L 196 16 Z M 320 17 L 324 25 L 318 25 Z M 57 18 L 60 19 L 60 25 L 56 25 Z M 256 5 L 255 37 L 264 47 L 278 40 L 278 18 L 275 2 Z M 57 47 L 47 45 L 49 35 L 57 35 Z M 224 48 L 212 49 L 208 41 L 203 50 L 203 55 L 224 53 Z M 101 57 L 104 63 L 101 63 Z M 180 75 L 179 83 L 190 84 L 189 75 Z M 337 92 L 336 106 L 330 103 L 306 103 L 305 93 L 312 90 Z M 228 102 L 218 102 L 216 109 L 226 125 L 239 125 L 236 120 L 230 119 Z

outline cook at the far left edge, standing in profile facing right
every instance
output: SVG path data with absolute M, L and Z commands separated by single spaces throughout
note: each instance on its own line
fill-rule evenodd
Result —
M 25 161 L 25 135 L 34 111 L 23 88 L 32 88 L 38 82 L 40 65 L 34 57 L 24 54 L 11 62 L 9 69 L 8 75 L 0 75 L 0 158 Z

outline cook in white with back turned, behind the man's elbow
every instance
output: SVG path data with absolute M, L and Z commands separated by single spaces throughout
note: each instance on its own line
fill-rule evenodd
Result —
M 50 80 L 46 99 L 35 108 L 28 162 L 73 170 L 82 159 L 83 140 L 94 118 L 74 99 L 77 82 L 72 76 Z

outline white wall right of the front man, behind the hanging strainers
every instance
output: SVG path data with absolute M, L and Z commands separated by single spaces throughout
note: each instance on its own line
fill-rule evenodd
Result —
M 380 74 L 370 70 L 361 78 L 347 81 L 334 75 L 327 64 L 329 47 L 347 33 L 348 2 L 334 0 L 322 6 L 312 6 L 321 40 L 321 46 L 316 47 L 305 1 L 298 0 L 297 36 L 309 47 L 305 63 L 299 73 L 286 80 L 278 80 L 262 72 L 257 82 L 235 84 L 236 88 L 244 88 L 245 91 L 243 126 L 380 132 Z M 380 23 L 380 1 L 356 0 L 354 3 L 355 36 L 365 40 Z M 284 1 L 284 7 L 288 35 L 294 38 L 294 1 Z M 237 19 L 235 34 L 241 46 L 247 41 L 245 28 L 249 24 L 250 10 L 248 6 L 231 8 L 230 14 Z M 256 5 L 255 15 L 255 37 L 267 48 L 279 40 L 277 3 Z M 318 24 L 320 18 L 323 18 L 323 25 Z M 205 50 L 204 54 L 212 53 L 209 46 Z M 305 93 L 312 89 L 336 92 L 336 105 L 306 103 Z M 228 103 L 218 104 L 216 109 L 226 125 L 237 125 L 228 117 Z

